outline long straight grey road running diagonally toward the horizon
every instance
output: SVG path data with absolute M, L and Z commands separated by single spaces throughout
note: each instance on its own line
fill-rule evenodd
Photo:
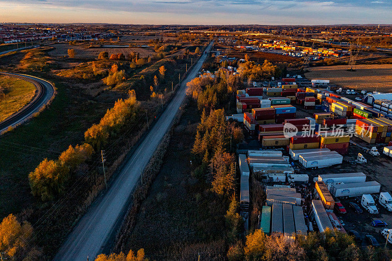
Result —
M 212 43 L 206 51 L 208 52 L 211 47 Z M 87 256 L 90 260 L 94 260 L 102 252 L 113 233 L 117 232 L 128 208 L 132 190 L 139 180 L 141 169 L 146 167 L 159 142 L 168 131 L 185 98 L 186 83 L 196 77 L 206 57 L 207 54 L 204 53 L 188 73 L 177 94 L 150 129 L 147 137 L 123 165 L 105 195 L 99 197 L 79 220 L 54 260 L 85 261 Z

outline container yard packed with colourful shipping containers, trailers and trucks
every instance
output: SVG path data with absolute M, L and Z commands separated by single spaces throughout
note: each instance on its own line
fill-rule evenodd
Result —
M 378 237 L 366 224 L 374 213 L 392 224 L 392 214 L 378 203 L 380 192 L 392 190 L 385 174 L 392 169 L 392 102 L 354 101 L 324 88 L 327 82 L 314 84 L 321 85 L 302 87 L 287 78 L 263 92 L 247 88 L 237 95 L 243 117 L 236 114 L 231 119 L 244 123 L 246 143 L 252 144 L 239 154 L 242 215 L 248 222 L 251 191 L 243 190 L 252 188 L 253 176 L 266 193 L 257 220 L 267 234 L 294 238 L 331 228 Z M 294 131 L 288 132 L 287 126 Z M 374 153 L 377 150 L 379 154 Z M 367 161 L 359 160 L 358 154 Z M 377 211 L 368 195 L 375 199 Z

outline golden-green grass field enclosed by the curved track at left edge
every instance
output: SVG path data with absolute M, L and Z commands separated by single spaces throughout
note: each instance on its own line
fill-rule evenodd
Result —
M 22 109 L 36 92 L 34 84 L 1 74 L 0 88 L 3 89 L 5 95 L 1 97 L 0 91 L 0 121 Z

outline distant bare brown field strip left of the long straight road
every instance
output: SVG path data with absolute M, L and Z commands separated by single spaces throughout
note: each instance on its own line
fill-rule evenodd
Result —
M 119 43 L 121 44 L 121 43 Z M 113 45 L 119 45 L 119 44 L 113 44 Z M 128 47 L 120 47 L 120 48 L 85 48 L 83 46 L 70 46 L 68 44 L 57 44 L 57 45 L 52 45 L 52 47 L 55 47 L 54 50 L 49 51 L 49 55 L 53 56 L 64 56 L 68 55 L 67 51 L 68 49 L 74 49 L 75 50 L 75 58 L 98 58 L 98 54 L 102 51 L 107 51 L 109 53 L 109 56 L 112 53 L 120 53 L 122 52 L 125 56 L 128 53 L 131 52 L 139 52 L 140 57 L 147 57 L 148 55 L 153 55 L 155 52 L 152 47 L 146 47 L 146 48 L 128 48 Z

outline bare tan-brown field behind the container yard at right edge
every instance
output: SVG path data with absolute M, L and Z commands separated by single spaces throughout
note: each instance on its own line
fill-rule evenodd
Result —
M 366 89 L 368 91 L 392 91 L 392 64 L 356 65 L 356 71 L 346 71 L 348 65 L 324 66 L 311 68 L 305 73 L 309 79 L 330 80 L 349 89 Z

